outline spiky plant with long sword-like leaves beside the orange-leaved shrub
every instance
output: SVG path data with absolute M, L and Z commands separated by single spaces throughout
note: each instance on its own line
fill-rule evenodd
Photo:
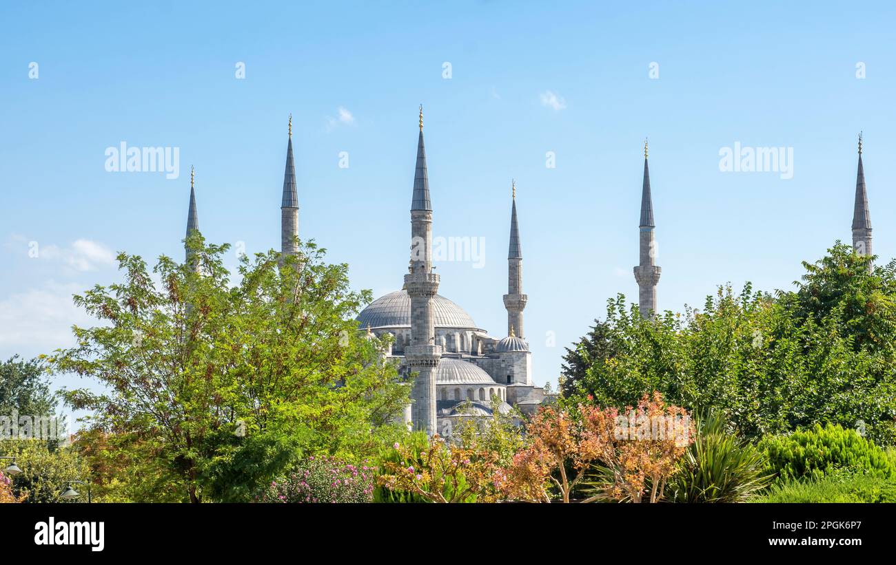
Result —
M 671 502 L 745 502 L 771 483 L 762 451 L 737 434 L 719 412 L 697 417 L 697 437 L 669 479 Z

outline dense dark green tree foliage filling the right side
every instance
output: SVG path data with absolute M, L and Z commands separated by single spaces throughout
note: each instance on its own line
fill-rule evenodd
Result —
M 797 291 L 720 287 L 702 310 L 642 320 L 625 297 L 567 356 L 572 401 L 607 406 L 659 391 L 689 409 L 715 409 L 756 440 L 816 423 L 864 426 L 896 439 L 896 271 L 839 242 Z

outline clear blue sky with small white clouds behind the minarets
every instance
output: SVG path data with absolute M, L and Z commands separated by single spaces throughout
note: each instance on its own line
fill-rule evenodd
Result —
M 636 297 L 645 137 L 662 309 L 789 288 L 849 240 L 858 131 L 874 249 L 896 256 L 892 4 L 180 4 L 0 7 L 3 358 L 69 345 L 71 294 L 115 281 L 115 251 L 181 257 L 190 164 L 207 239 L 278 247 L 290 113 L 301 236 L 379 296 L 406 271 L 425 106 L 435 235 L 486 245 L 483 268 L 438 265 L 440 293 L 495 335 L 516 179 L 538 384 Z M 107 172 L 122 141 L 179 148 L 179 178 Z M 792 148 L 792 178 L 721 172 L 737 142 Z

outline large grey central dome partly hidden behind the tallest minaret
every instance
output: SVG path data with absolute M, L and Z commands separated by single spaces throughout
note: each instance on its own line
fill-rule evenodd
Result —
M 358 314 L 361 327 L 410 327 L 410 297 L 408 291 L 394 291 L 375 299 Z M 433 297 L 433 325 L 437 328 L 477 330 L 473 318 L 463 308 L 441 294 Z

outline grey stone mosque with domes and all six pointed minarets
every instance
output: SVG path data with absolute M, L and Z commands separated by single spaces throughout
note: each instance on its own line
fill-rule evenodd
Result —
M 644 172 L 639 222 L 639 262 L 634 267 L 638 283 L 638 304 L 644 317 L 657 308 L 660 267 L 654 265 L 653 204 L 650 195 L 648 146 L 644 142 Z M 187 234 L 199 229 L 193 175 Z M 433 205 L 426 172 L 423 142 L 423 108 L 420 108 L 417 167 L 410 206 L 410 261 L 401 290 L 375 299 L 358 315 L 361 331 L 380 336 L 390 333 L 393 359 L 402 377 L 417 374 L 411 385 L 411 404 L 404 419 L 427 434 L 449 435 L 461 418 L 488 417 L 493 407 L 508 413 L 516 407 L 533 414 L 552 395 L 532 382 L 532 361 L 526 341 L 523 309 L 528 297 L 522 291 L 522 249 L 516 212 L 516 190 L 512 191 L 510 236 L 507 252 L 507 328 L 496 337 L 478 327 L 461 306 L 438 294 L 439 275 L 432 265 Z M 853 248 L 871 255 L 871 220 L 865 172 L 862 166 L 862 138 L 858 140 L 856 203 L 852 221 Z M 292 116 L 289 117 L 286 171 L 280 205 L 280 241 L 283 254 L 297 254 L 298 195 L 292 149 Z M 187 256 L 187 261 L 190 257 Z M 446 433 L 447 431 L 447 433 Z

